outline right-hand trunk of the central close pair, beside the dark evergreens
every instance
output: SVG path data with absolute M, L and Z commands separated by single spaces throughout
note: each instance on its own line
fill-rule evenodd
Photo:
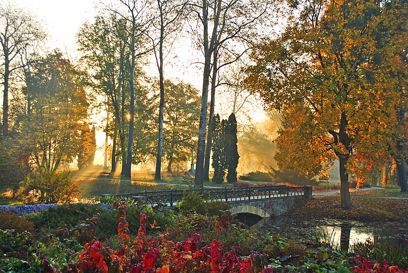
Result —
M 211 102 L 210 102 L 210 122 L 208 124 L 208 135 L 207 135 L 207 145 L 206 145 L 206 160 L 204 163 L 204 181 L 210 181 L 210 156 L 211 156 L 211 147 L 213 143 L 213 132 L 211 131 L 211 124 L 214 118 L 214 106 L 215 106 L 215 85 L 217 82 L 217 61 L 218 61 L 218 50 L 217 47 L 214 47 L 213 53 L 213 77 L 211 79 Z

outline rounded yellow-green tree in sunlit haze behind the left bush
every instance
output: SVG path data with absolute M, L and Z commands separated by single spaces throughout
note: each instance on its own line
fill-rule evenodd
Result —
M 37 167 L 57 170 L 81 150 L 81 133 L 87 122 L 87 97 L 79 73 L 54 51 L 36 63 L 33 72 L 30 121 L 24 124 L 24 141 Z

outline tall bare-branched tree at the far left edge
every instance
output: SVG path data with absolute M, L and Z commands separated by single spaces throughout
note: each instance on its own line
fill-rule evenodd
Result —
M 0 44 L 3 60 L 3 134 L 9 131 L 10 75 L 22 67 L 18 54 L 36 40 L 45 37 L 40 23 L 22 9 L 10 3 L 0 4 Z

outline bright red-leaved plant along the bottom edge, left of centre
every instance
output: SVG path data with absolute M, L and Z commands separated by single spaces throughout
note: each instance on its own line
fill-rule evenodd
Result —
M 221 242 L 213 240 L 211 246 L 198 247 L 200 233 L 195 233 L 185 242 L 174 243 L 168 240 L 169 234 L 162 234 L 154 240 L 146 239 L 147 216 L 140 214 L 138 234 L 130 244 L 129 224 L 125 210 L 128 204 L 115 202 L 118 211 L 119 248 L 113 251 L 106 244 L 92 239 L 85 244 L 86 250 L 78 256 L 73 266 L 65 267 L 65 272 L 130 272 L 130 273 L 169 273 L 169 272 L 250 272 L 252 257 L 242 260 L 234 251 L 224 253 Z M 231 219 L 221 217 L 219 228 L 227 228 Z M 150 225 L 152 228 L 155 224 Z M 264 272 L 270 272 L 265 269 Z

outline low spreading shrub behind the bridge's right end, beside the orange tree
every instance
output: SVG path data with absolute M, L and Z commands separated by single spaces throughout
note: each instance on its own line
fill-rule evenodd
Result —
M 275 170 L 273 168 L 270 172 L 273 183 L 284 183 L 284 184 L 294 184 L 298 186 L 305 185 L 318 185 L 319 181 L 316 180 L 315 176 L 312 175 L 302 175 L 296 170 Z

